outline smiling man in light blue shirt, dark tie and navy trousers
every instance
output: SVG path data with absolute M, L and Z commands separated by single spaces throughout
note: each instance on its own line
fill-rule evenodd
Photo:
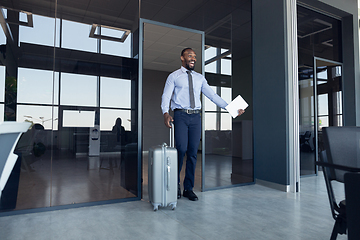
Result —
M 181 52 L 182 66 L 172 72 L 165 83 L 161 99 L 161 109 L 164 123 L 171 128 L 170 122 L 175 126 L 175 142 L 178 151 L 178 198 L 181 197 L 180 172 L 185 153 L 187 155 L 183 196 L 192 201 L 198 200 L 193 192 L 197 150 L 201 137 L 201 101 L 200 95 L 204 93 L 211 101 L 225 109 L 227 103 L 217 95 L 207 83 L 205 77 L 195 71 L 196 54 L 191 48 Z M 174 118 L 169 114 L 169 103 L 174 111 Z M 239 109 L 239 115 L 245 111 Z

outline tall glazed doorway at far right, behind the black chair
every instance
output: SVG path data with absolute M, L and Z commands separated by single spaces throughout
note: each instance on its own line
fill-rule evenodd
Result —
M 342 125 L 342 20 L 297 6 L 300 176 L 317 174 L 322 128 Z

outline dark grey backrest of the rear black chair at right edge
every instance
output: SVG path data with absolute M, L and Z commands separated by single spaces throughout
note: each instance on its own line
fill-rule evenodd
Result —
M 360 167 L 360 127 L 323 128 L 327 161 L 348 167 Z M 330 170 L 330 178 L 344 182 L 345 171 Z

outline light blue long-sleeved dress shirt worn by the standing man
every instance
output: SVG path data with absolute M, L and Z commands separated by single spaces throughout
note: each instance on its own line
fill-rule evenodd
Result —
M 168 76 L 165 83 L 164 92 L 161 97 L 161 110 L 163 114 L 169 112 L 169 102 L 171 110 L 177 108 L 191 109 L 189 97 L 189 80 L 186 71 L 188 70 L 181 66 L 180 69 L 172 72 Z M 222 99 L 211 89 L 203 75 L 195 71 L 191 71 L 191 75 L 193 79 L 193 88 L 195 95 L 194 109 L 201 109 L 201 92 L 221 108 L 225 108 L 228 105 L 224 99 Z

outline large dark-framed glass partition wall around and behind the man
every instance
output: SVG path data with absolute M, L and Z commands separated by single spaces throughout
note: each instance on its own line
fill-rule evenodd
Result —
M 193 47 L 214 91 L 249 103 L 232 119 L 203 100 L 195 190 L 254 181 L 251 0 L 20 0 L 1 10 L 0 121 L 31 127 L 17 145 L 20 164 L 0 212 L 142 197 L 141 151 L 168 139 L 160 111 L 168 73 L 139 72 L 140 18 L 199 31 L 205 44 L 197 49 L 198 36 L 176 31 L 160 39 L 161 29 L 150 29 L 144 61 L 180 67 L 181 50 Z M 178 47 L 170 57 L 158 51 L 167 43 Z

